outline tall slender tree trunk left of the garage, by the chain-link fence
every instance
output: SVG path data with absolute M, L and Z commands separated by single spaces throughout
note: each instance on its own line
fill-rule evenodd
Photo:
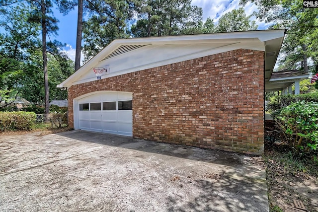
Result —
M 43 73 L 44 73 L 44 90 L 45 90 L 45 114 L 50 113 L 50 95 L 49 95 L 49 77 L 48 77 L 48 64 L 46 53 L 46 8 L 45 0 L 41 0 L 42 12 L 42 56 L 43 56 Z

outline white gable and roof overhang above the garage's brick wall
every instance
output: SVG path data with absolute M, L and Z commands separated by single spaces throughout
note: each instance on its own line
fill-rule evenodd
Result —
M 285 33 L 256 30 L 114 40 L 58 87 L 96 80 L 95 67 L 107 67 L 102 75 L 106 78 L 237 49 L 264 51 L 265 81 L 269 81 Z

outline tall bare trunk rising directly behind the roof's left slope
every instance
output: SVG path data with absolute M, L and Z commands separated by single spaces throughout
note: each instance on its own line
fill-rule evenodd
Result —
M 83 0 L 79 0 L 78 7 L 78 29 L 76 34 L 75 71 L 80 68 L 81 33 L 83 26 Z

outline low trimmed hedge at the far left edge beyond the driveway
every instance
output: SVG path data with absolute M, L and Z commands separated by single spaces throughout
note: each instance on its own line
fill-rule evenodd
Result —
M 0 112 L 0 131 L 30 130 L 35 117 L 33 112 Z

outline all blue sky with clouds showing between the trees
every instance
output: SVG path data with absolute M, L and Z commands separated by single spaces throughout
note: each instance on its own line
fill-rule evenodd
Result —
M 192 0 L 192 5 L 197 5 L 203 9 L 203 21 L 210 17 L 214 19 L 214 22 L 218 22 L 223 14 L 239 8 L 239 0 Z M 249 2 L 244 6 L 244 10 L 247 15 L 250 15 L 257 10 L 257 7 Z M 64 16 L 56 10 L 54 15 L 59 20 L 59 35 L 55 39 L 67 44 L 65 51 L 72 60 L 75 60 L 77 11 L 74 9 Z M 255 20 L 255 17 L 251 17 L 251 19 Z M 256 20 L 256 24 L 258 29 L 267 29 L 269 26 L 269 24 L 258 20 Z

